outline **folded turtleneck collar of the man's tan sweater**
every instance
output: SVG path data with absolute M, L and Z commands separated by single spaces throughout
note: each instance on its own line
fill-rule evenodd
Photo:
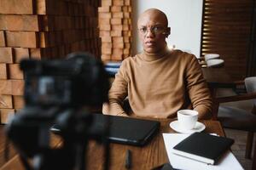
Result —
M 157 53 L 148 53 L 146 51 L 143 50 L 143 60 L 145 61 L 154 61 L 154 60 L 158 60 L 163 58 L 164 56 L 166 56 L 166 54 L 168 54 L 170 51 L 167 48 L 163 48 L 161 51 L 157 52 Z

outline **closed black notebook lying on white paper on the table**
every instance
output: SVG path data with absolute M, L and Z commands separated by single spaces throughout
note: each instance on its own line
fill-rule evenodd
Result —
M 173 147 L 173 153 L 196 161 L 216 164 L 224 152 L 234 144 L 234 139 L 208 133 L 193 133 Z

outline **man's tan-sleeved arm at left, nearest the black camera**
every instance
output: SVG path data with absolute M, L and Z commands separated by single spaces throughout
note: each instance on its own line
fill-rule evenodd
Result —
M 103 104 L 103 114 L 114 116 L 127 116 L 122 107 L 123 101 L 128 94 L 128 78 L 126 77 L 125 70 L 125 62 L 123 61 L 108 92 L 109 103 Z

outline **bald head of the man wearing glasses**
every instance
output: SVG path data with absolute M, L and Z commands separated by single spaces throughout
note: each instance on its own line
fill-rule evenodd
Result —
M 137 28 L 144 51 L 157 53 L 166 48 L 166 37 L 170 35 L 170 27 L 165 13 L 157 8 L 149 8 L 140 15 Z

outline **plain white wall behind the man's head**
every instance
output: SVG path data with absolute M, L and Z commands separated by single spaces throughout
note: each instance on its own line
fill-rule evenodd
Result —
M 137 36 L 137 18 L 148 8 L 159 8 L 166 13 L 171 35 L 169 47 L 187 51 L 200 57 L 202 0 L 133 0 L 133 53 L 143 50 Z

